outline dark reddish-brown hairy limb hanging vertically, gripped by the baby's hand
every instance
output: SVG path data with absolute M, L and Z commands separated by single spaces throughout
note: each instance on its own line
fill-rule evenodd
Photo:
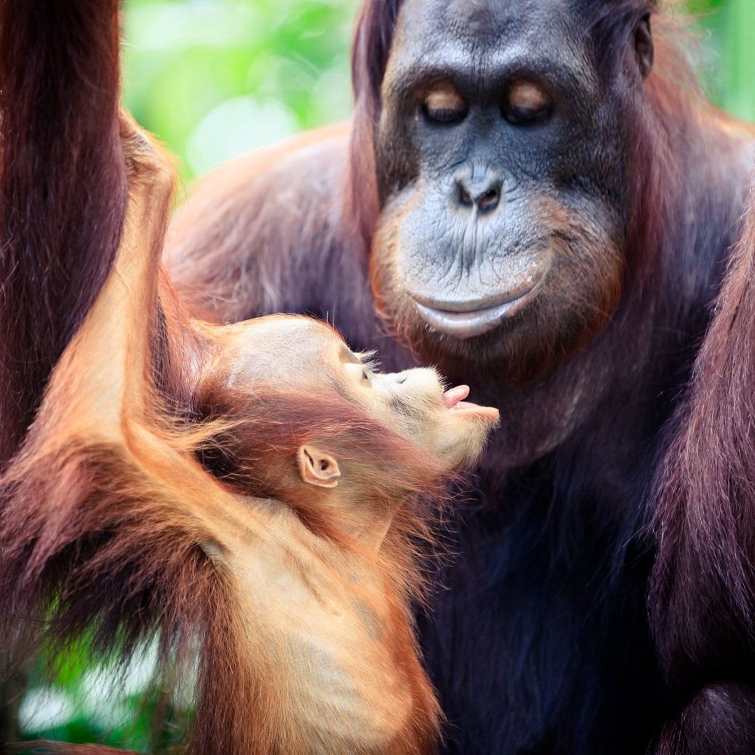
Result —
M 0 29 L 0 465 L 105 279 L 126 199 L 114 118 L 118 3 L 16 5 L 3 2 Z M 87 50 L 77 41 L 85 35 Z M 88 285 L 72 285 L 80 280 Z

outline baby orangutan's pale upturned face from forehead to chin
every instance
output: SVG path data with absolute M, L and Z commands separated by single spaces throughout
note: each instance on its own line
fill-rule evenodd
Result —
M 433 368 L 378 372 L 370 354 L 353 353 L 322 322 L 273 315 L 225 330 L 223 382 L 246 384 L 252 390 L 272 382 L 292 392 L 333 390 L 448 467 L 476 461 L 488 431 L 498 422 L 498 409 L 464 401 L 467 386 L 444 390 Z M 304 462 L 300 466 L 307 467 Z M 337 482 L 337 477 L 328 476 L 334 470 L 323 471 L 329 483 Z

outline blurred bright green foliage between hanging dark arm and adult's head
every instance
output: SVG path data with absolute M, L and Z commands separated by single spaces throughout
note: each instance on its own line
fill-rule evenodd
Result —
M 128 0 L 126 106 L 191 176 L 351 111 L 354 0 Z

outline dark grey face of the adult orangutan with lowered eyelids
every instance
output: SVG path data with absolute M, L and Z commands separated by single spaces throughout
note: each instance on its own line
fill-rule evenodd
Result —
M 375 138 L 372 276 L 427 359 L 473 349 L 532 378 L 615 310 L 627 133 L 575 21 L 565 4 L 402 5 Z

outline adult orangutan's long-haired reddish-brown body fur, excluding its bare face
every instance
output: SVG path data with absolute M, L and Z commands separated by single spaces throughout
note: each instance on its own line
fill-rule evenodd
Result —
M 389 365 L 442 360 L 452 378 L 476 374 L 474 395 L 501 410 L 479 467 L 482 505 L 459 523 L 461 558 L 442 575 L 453 589 L 424 628 L 457 725 L 449 751 L 747 752 L 752 220 L 721 282 L 755 132 L 704 99 L 687 57 L 695 43 L 661 3 L 575 2 L 629 134 L 626 269 L 618 300 L 602 291 L 596 303 L 607 307 L 602 329 L 512 385 L 501 374 L 532 374 L 516 361 L 527 348 L 499 363 L 485 343 L 439 341 L 409 327 L 390 286 L 371 285 L 374 134 L 401 5 L 362 6 L 350 138 L 308 135 L 273 165 L 263 150 L 220 168 L 177 214 L 168 268 L 187 304 L 217 321 L 315 313 Z M 646 14 L 655 67 L 629 88 L 621 74 L 636 65 Z M 547 344 L 530 325 L 525 347 Z

